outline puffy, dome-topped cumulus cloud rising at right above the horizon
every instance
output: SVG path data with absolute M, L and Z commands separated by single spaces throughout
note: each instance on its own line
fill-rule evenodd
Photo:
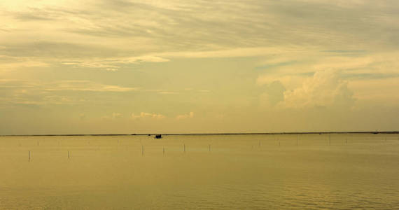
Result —
M 283 105 L 290 108 L 350 106 L 354 101 L 348 83 L 335 70 L 317 71 L 301 87 L 283 94 Z

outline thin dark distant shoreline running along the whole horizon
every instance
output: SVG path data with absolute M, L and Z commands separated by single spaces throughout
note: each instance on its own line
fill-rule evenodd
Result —
M 256 133 L 150 133 L 150 134 L 26 134 L 26 135 L 0 135 L 0 137 L 101 137 L 101 136 L 148 136 L 162 134 L 165 136 L 199 136 L 199 135 L 283 135 L 283 134 L 399 134 L 399 131 L 384 132 L 256 132 Z

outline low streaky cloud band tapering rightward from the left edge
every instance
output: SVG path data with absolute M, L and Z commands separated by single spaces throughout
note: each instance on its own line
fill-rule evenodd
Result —
M 139 87 L 106 85 L 90 80 L 39 80 L 0 79 L 0 104 L 66 105 L 84 104 L 87 99 L 99 99 L 102 95 L 139 91 Z M 92 94 L 96 92 L 97 94 Z M 110 95 L 107 95 L 110 97 Z M 102 101 L 97 103 L 102 103 Z

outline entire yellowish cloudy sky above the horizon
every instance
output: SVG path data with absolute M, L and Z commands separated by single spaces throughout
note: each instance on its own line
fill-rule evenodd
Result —
M 397 0 L 3 0 L 0 20 L 0 134 L 399 130 Z

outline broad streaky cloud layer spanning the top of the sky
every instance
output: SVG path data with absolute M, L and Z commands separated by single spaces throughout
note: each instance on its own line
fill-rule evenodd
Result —
M 62 58 L 59 62 L 74 58 L 90 67 L 109 57 L 120 65 L 169 57 L 397 48 L 399 4 L 356 2 L 6 1 L 0 15 L 13 30 L 0 36 L 6 43 L 0 55 Z

